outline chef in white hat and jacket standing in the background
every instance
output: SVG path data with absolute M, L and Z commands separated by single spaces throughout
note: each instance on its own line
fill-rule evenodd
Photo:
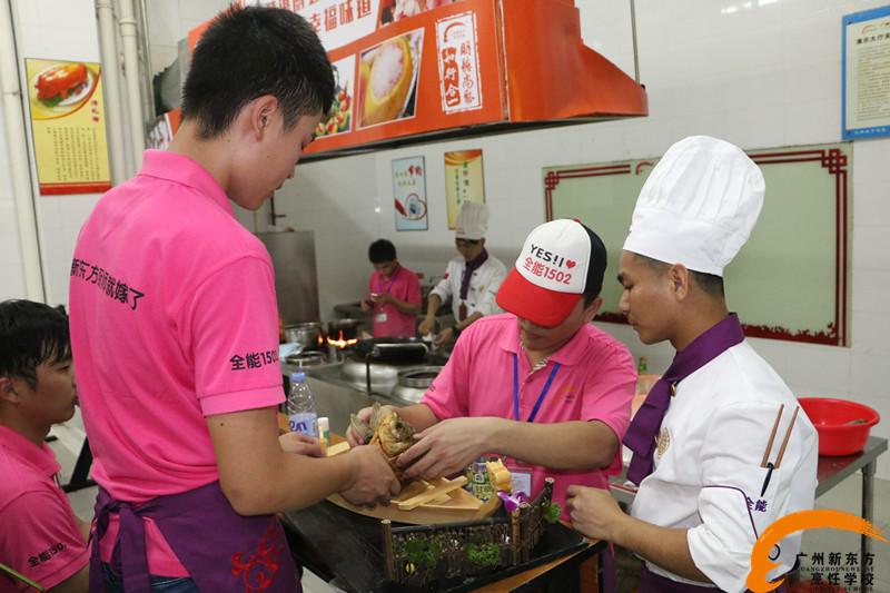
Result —
M 488 255 L 485 249 L 487 228 L 488 207 L 479 201 L 464 202 L 455 221 L 454 245 L 461 255 L 448 261 L 445 276 L 429 293 L 426 317 L 417 327 L 422 336 L 433 333 L 436 312 L 451 299 L 455 324 L 436 335 L 436 344 L 456 339 L 479 317 L 503 313 L 495 296 L 507 270 L 500 259 Z

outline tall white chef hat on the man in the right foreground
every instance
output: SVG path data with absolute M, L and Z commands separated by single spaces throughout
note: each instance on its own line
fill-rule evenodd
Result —
M 624 249 L 723 276 L 758 221 L 765 187 L 739 147 L 708 136 L 684 138 L 640 191 Z

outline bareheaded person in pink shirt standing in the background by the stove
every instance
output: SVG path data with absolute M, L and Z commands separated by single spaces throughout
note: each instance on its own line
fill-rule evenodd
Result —
M 362 310 L 374 315 L 374 337 L 414 337 L 421 313 L 421 280 L 398 263 L 396 246 L 377 239 L 368 247 L 374 274 L 368 283 L 369 296 L 362 300 Z

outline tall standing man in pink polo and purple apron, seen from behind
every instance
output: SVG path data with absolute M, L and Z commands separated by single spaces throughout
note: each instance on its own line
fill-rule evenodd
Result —
M 271 260 L 231 206 L 257 210 L 294 177 L 334 76 L 305 19 L 235 7 L 201 36 L 182 96 L 169 150 L 99 200 L 70 270 L 100 485 L 90 590 L 291 593 L 276 512 L 399 491 L 377 447 L 327 458 L 279 439 Z

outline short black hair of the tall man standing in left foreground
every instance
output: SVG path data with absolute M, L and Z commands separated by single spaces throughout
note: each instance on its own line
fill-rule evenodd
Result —
M 284 128 L 334 102 L 334 72 L 312 26 L 290 10 L 233 7 L 220 12 L 195 47 L 182 86 L 184 120 L 204 140 L 224 134 L 254 99 L 278 99 Z

